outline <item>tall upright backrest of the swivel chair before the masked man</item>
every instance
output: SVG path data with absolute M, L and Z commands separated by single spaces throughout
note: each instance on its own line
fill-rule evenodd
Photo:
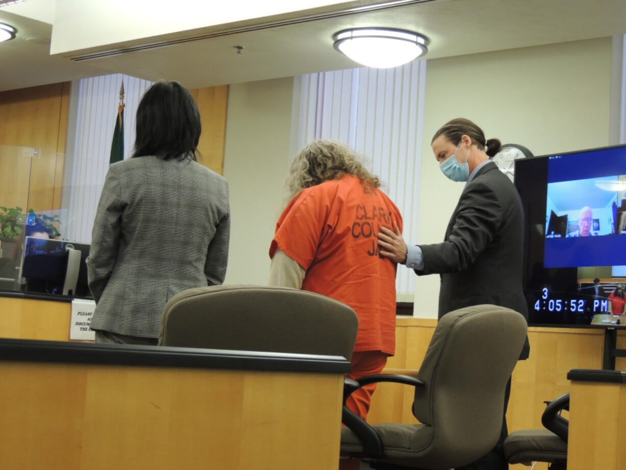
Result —
M 442 467 L 466 464 L 495 446 L 526 328 L 520 313 L 495 305 L 461 308 L 439 320 L 419 368 L 426 386 L 416 387 L 413 414 L 427 425 L 421 432 L 431 432 L 427 453 Z

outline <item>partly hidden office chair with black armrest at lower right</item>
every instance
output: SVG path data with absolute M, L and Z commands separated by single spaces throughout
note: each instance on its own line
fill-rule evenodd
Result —
M 548 462 L 551 470 L 567 468 L 569 422 L 560 415 L 569 409 L 570 394 L 564 394 L 546 405 L 541 415 L 545 429 L 522 429 L 511 432 L 504 442 L 506 460 L 510 464 L 532 465 Z

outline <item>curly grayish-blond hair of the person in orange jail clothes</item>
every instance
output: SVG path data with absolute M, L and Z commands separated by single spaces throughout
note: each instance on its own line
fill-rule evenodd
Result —
M 313 140 L 295 155 L 285 181 L 285 205 L 303 189 L 343 175 L 358 177 L 370 191 L 381 186 L 381 181 L 365 168 L 359 155 L 341 142 Z

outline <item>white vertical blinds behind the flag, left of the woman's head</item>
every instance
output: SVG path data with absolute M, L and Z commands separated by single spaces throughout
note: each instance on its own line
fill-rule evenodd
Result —
M 120 85 L 124 82 L 124 158 L 132 153 L 135 143 L 135 115 L 144 91 L 151 81 L 133 76 L 114 75 L 84 78 L 72 83 L 78 87 L 74 95 L 76 103 L 71 105 L 75 113 L 75 133 L 68 141 L 65 173 L 71 175 L 64 186 L 69 191 L 63 201 L 66 209 L 63 238 L 71 241 L 91 243 L 91 229 L 96 216 L 96 207 L 105 182 L 111 154 L 111 140 L 120 103 Z

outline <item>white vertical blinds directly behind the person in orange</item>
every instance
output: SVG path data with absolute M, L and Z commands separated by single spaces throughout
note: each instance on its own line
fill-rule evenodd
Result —
M 356 68 L 297 77 L 298 149 L 316 138 L 346 142 L 369 160 L 369 170 L 404 219 L 404 239 L 418 236 L 426 61 L 393 69 Z M 398 300 L 413 301 L 414 274 L 398 269 Z

